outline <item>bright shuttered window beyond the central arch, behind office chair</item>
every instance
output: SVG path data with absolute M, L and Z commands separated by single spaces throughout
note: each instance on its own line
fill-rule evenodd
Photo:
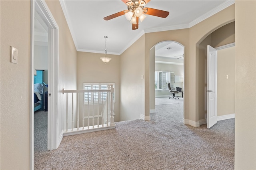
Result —
M 174 88 L 174 72 L 155 71 L 155 90 L 168 90 L 168 83 Z

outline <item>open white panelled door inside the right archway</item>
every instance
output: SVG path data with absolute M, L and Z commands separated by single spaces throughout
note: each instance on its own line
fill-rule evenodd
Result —
M 217 123 L 217 50 L 207 45 L 207 128 Z

